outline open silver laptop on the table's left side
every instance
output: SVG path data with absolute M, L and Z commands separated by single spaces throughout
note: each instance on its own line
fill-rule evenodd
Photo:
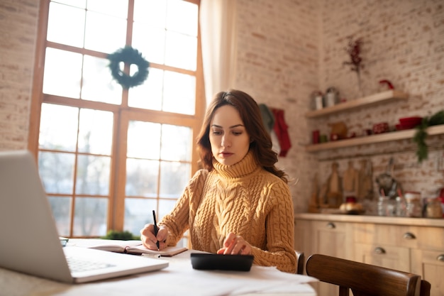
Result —
M 68 261 L 96 263 L 70 270 Z M 133 275 L 168 261 L 75 246 L 62 247 L 35 158 L 27 150 L 0 151 L 0 267 L 64 283 Z

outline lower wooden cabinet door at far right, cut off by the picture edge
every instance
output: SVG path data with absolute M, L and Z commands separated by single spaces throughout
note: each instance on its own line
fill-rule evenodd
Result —
M 442 251 L 412 251 L 412 273 L 431 283 L 433 296 L 444 296 L 444 248 Z

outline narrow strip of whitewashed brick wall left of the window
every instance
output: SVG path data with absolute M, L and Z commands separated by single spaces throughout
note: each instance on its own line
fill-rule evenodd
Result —
M 0 150 L 28 146 L 38 5 L 0 1 Z

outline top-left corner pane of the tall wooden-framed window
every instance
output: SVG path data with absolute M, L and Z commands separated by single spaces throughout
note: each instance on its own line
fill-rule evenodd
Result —
M 83 48 L 84 9 L 50 2 L 48 41 Z

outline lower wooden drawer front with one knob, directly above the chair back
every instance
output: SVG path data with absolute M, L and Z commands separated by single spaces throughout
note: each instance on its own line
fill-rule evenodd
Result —
M 355 244 L 355 261 L 410 273 L 410 248 L 380 244 Z

